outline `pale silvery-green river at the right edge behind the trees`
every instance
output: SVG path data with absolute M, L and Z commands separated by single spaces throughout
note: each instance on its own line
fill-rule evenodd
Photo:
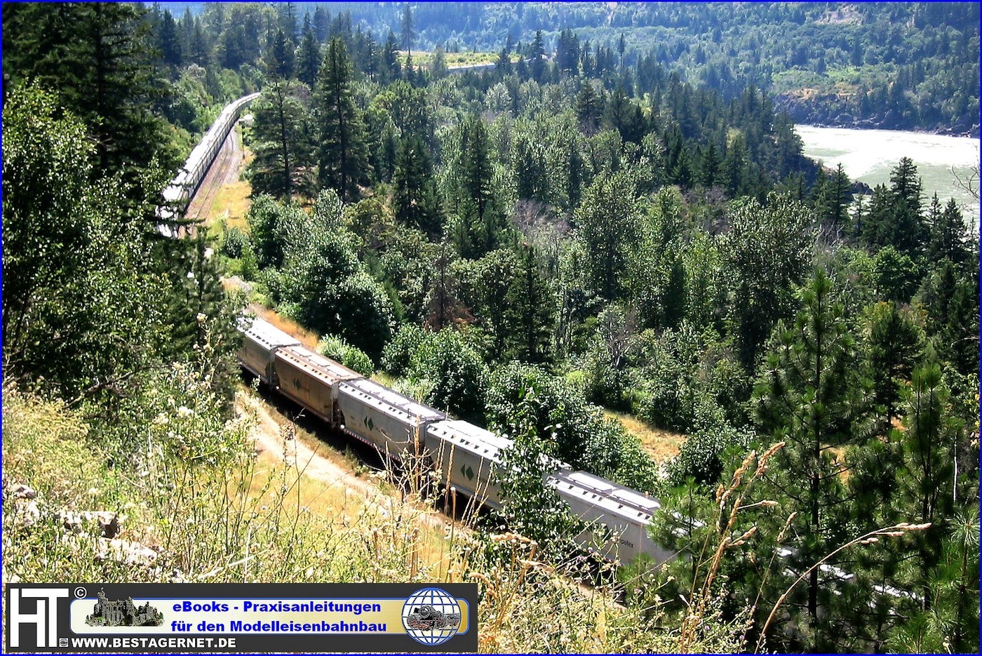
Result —
M 806 156 L 823 160 L 829 167 L 842 163 L 849 178 L 870 187 L 881 183 L 889 187 L 891 169 L 897 166 L 901 157 L 909 157 L 917 165 L 923 183 L 925 206 L 935 191 L 942 204 L 954 197 L 961 204 L 965 219 L 972 220 L 978 234 L 979 202 L 958 189 L 952 167 L 965 178 L 972 166 L 979 165 L 979 139 L 897 130 L 814 126 L 794 126 L 794 130 L 804 143 Z

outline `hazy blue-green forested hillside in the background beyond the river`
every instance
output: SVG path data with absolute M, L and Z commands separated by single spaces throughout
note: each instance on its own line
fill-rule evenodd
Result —
M 202 3 L 174 3 L 201 11 Z M 753 84 L 796 123 L 928 130 L 978 137 L 979 8 L 974 3 L 419 3 L 421 50 L 528 52 L 541 29 L 550 52 L 624 62 L 654 57 L 682 79 L 738 95 Z M 183 10 L 182 10 L 183 11 Z M 404 5 L 323 3 L 331 17 L 401 34 Z M 404 44 L 400 42 L 402 47 Z M 587 64 L 588 66 L 588 64 Z

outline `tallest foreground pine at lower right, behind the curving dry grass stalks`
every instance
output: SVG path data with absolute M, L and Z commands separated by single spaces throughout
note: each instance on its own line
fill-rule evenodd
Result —
M 797 512 L 791 535 L 801 536 L 787 559 L 792 575 L 803 572 L 847 541 L 846 493 L 843 466 L 832 450 L 852 438 L 848 371 L 853 367 L 852 338 L 843 307 L 834 301 L 832 281 L 822 270 L 801 293 L 803 308 L 792 327 L 783 322 L 775 330 L 772 351 L 753 391 L 753 406 L 762 434 L 785 442 L 775 454 L 765 483 L 766 498 L 788 500 L 785 514 Z M 816 629 L 820 598 L 828 599 L 827 583 L 815 568 L 808 574 L 808 623 Z M 793 608 L 786 605 L 786 608 Z M 828 616 L 826 616 L 828 617 Z M 812 648 L 820 646 L 812 633 Z

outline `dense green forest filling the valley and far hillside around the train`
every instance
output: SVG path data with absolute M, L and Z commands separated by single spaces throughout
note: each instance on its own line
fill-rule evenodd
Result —
M 238 275 L 514 438 L 504 515 L 539 553 L 573 547 L 532 452 L 658 495 L 684 557 L 626 586 L 635 630 L 698 608 L 746 650 L 977 651 L 977 238 L 909 159 L 863 195 L 804 158 L 781 108 L 961 131 L 978 7 L 721 7 L 4 5 L 5 373 L 124 470 L 205 390 L 168 448 L 222 465 Z M 448 70 L 472 46 L 496 65 Z M 245 227 L 159 239 L 181 148 L 255 89 Z

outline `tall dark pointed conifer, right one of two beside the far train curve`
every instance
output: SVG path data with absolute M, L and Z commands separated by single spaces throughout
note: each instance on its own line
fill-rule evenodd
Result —
M 358 197 L 358 184 L 370 173 L 364 128 L 352 97 L 351 63 L 340 36 L 331 39 L 320 70 L 317 121 L 320 127 L 321 189 L 331 188 L 346 199 Z

